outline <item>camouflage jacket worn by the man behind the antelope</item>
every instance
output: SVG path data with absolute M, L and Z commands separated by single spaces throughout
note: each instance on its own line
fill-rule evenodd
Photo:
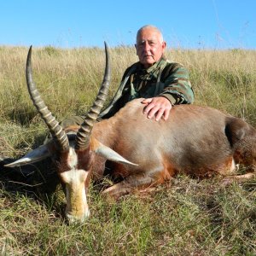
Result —
M 194 92 L 187 69 L 165 58 L 161 58 L 148 69 L 143 68 L 140 62 L 136 62 L 125 70 L 112 102 L 100 113 L 99 118 L 113 116 L 119 108 L 125 106 L 125 103 L 135 98 L 154 96 L 165 96 L 172 105 L 194 102 Z

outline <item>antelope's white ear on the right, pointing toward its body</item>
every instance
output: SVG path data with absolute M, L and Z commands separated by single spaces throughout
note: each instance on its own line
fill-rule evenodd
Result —
M 114 162 L 118 162 L 121 164 L 127 164 L 131 166 L 138 166 L 137 164 L 131 163 L 128 160 L 125 160 L 124 157 L 122 157 L 120 154 L 115 152 L 113 149 L 108 148 L 107 146 L 103 145 L 102 143 L 95 140 L 93 143 L 92 150 L 103 157 L 105 157 L 107 160 L 112 160 Z

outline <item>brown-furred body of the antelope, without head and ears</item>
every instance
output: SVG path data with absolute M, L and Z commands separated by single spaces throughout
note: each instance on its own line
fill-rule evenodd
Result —
M 156 122 L 143 115 L 140 102 L 128 103 L 92 130 L 91 143 L 96 138 L 138 164 L 112 164 L 110 174 L 124 181 L 108 189 L 110 195 L 130 192 L 129 186 L 163 183 L 177 172 L 192 177 L 229 175 L 233 158 L 236 164 L 255 169 L 256 131 L 241 119 L 213 108 L 179 105 L 172 108 L 167 121 Z M 92 172 L 102 173 L 102 169 L 93 165 Z

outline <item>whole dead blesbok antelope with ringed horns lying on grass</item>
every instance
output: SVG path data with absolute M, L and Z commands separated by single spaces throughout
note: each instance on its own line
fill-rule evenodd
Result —
M 229 176 L 236 164 L 252 177 L 256 169 L 256 130 L 245 121 L 217 109 L 178 105 L 167 121 L 143 115 L 142 99 L 129 102 L 110 119 L 96 122 L 107 98 L 110 80 L 108 47 L 106 67 L 96 101 L 80 126 L 64 131 L 45 106 L 32 81 L 31 55 L 26 61 L 26 82 L 35 107 L 44 119 L 52 140 L 8 166 L 21 166 L 50 156 L 62 183 L 66 184 L 66 215 L 70 221 L 88 217 L 86 192 L 91 177 L 102 176 L 106 161 L 119 183 L 103 193 L 118 198 L 133 189 L 164 183 L 178 172 L 194 177 Z

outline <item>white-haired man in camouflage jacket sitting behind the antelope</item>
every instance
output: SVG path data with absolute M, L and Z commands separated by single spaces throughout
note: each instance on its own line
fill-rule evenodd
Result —
M 135 44 L 139 61 L 125 70 L 119 89 L 99 119 L 107 119 L 127 102 L 142 97 L 143 113 L 148 119 L 168 119 L 172 105 L 194 102 L 188 71 L 179 63 L 167 61 L 166 42 L 160 30 L 151 25 L 137 32 Z M 61 125 L 81 125 L 82 117 L 65 119 Z

